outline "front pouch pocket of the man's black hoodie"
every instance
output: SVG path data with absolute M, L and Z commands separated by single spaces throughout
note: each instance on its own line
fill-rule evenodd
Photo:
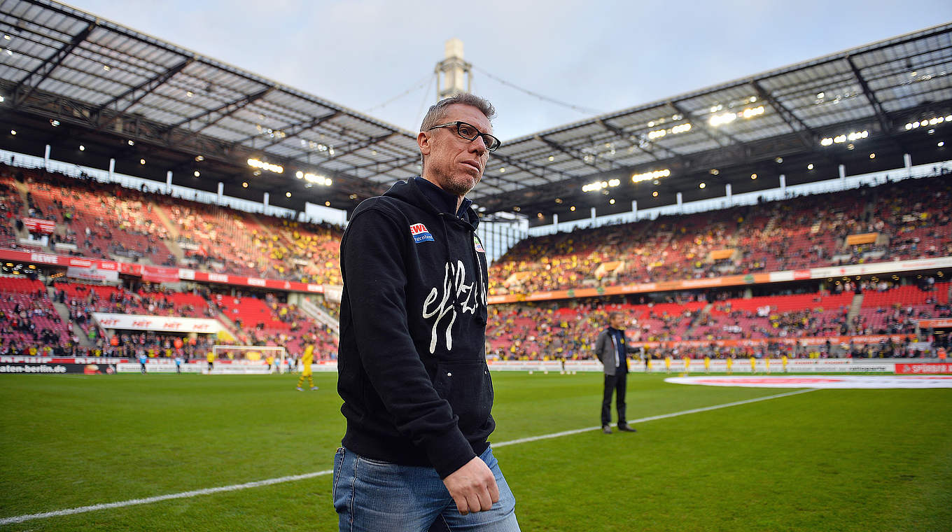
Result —
M 484 361 L 437 365 L 436 392 L 459 417 L 460 431 L 468 436 L 486 425 L 492 411 L 492 379 Z

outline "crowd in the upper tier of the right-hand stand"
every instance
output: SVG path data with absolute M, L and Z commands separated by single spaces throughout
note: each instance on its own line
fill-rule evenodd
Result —
M 949 205 L 952 183 L 932 177 L 528 238 L 490 267 L 490 293 L 947 256 Z M 879 237 L 847 242 L 866 233 Z

